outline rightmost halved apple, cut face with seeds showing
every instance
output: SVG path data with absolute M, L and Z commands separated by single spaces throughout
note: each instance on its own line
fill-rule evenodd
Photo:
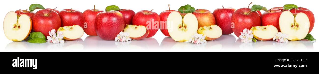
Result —
M 292 14 L 290 11 L 284 11 L 279 17 L 280 31 L 288 35 L 288 40 L 304 39 L 309 27 L 309 18 L 305 13 Z

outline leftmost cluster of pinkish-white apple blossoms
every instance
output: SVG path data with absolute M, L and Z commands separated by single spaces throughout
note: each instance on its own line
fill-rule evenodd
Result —
M 61 31 L 58 31 L 56 33 L 56 30 L 55 29 L 52 29 L 51 31 L 49 31 L 49 35 L 50 36 L 47 36 L 47 41 L 50 42 L 50 43 L 64 43 L 64 40 L 63 40 L 63 32 Z

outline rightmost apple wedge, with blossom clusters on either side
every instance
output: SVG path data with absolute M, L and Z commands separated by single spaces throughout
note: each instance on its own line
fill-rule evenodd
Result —
M 253 31 L 254 38 L 257 40 L 272 40 L 278 33 L 278 29 L 273 25 L 256 26 L 250 28 Z

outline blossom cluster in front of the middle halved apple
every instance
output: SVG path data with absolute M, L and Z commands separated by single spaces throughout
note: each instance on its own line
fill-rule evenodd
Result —
M 195 44 L 203 44 L 203 43 L 206 43 L 207 41 L 205 40 L 205 35 L 203 34 L 198 34 L 198 33 L 195 33 L 194 35 L 192 35 L 192 38 L 190 38 L 188 40 L 188 42 L 192 42 L 192 43 L 195 43 Z

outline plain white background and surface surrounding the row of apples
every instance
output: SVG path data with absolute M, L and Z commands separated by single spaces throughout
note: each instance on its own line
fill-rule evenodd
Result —
M 86 9 L 105 10 L 109 5 L 117 5 L 120 9 L 132 9 L 135 12 L 140 10 L 152 10 L 160 14 L 168 10 L 167 4 L 171 9 L 177 10 L 180 6 L 190 4 L 195 9 L 208 9 L 213 12 L 217 8 L 232 7 L 235 9 L 248 7 L 258 4 L 266 8 L 282 7 L 284 4 L 296 4 L 299 7 L 310 9 L 315 15 L 315 26 L 310 34 L 315 39 L 318 35 L 318 10 L 315 0 L 2 0 L 0 2 L 0 20 L 9 11 L 28 9 L 33 3 L 39 3 L 45 8 L 61 11 L 62 9 L 77 9 L 83 12 Z M 252 6 L 250 5 L 250 7 Z M 40 9 L 35 10 L 34 12 Z M 262 11 L 263 13 L 263 11 Z M 3 23 L 3 21 L 0 21 Z M 175 42 L 171 38 L 164 36 L 158 31 L 152 38 L 144 40 L 134 40 L 130 42 L 115 42 L 101 40 L 97 36 L 84 34 L 81 39 L 66 41 L 64 44 L 53 43 L 28 43 L 26 41 L 13 42 L 8 40 L 0 28 L 0 52 L 319 52 L 318 42 L 300 40 L 289 41 L 289 43 L 276 43 L 274 41 L 263 41 L 256 43 L 241 43 L 234 34 L 223 35 L 221 38 L 208 41 L 202 45 L 186 42 Z

